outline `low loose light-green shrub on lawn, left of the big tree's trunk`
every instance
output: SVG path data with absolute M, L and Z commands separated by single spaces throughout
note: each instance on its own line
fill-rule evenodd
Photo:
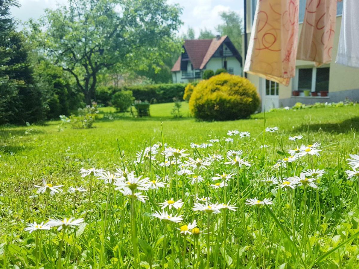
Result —
M 93 103 L 92 106 L 87 105 L 85 108 L 79 108 L 78 115 L 71 115 L 69 117 L 71 127 L 74 129 L 91 128 L 97 119 L 97 113 L 96 103 Z

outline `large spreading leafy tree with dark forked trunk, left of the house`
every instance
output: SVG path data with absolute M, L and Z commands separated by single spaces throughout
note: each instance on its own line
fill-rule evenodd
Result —
M 69 7 L 46 10 L 30 30 L 33 41 L 74 77 L 90 104 L 99 74 L 163 65 L 159 55 L 180 46 L 173 42 L 180 13 L 166 0 L 69 0 Z

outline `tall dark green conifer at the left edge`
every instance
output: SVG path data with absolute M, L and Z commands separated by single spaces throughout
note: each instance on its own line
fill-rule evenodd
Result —
M 29 48 L 10 6 L 17 1 L 0 0 L 0 123 L 38 122 L 46 117 L 47 107 L 41 91 L 34 85 Z

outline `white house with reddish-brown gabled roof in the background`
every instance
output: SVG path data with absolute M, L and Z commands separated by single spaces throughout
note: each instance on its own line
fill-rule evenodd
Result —
M 183 49 L 171 69 L 173 83 L 200 80 L 208 69 L 215 72 L 224 68 L 230 74 L 242 75 L 242 57 L 227 36 L 185 40 Z

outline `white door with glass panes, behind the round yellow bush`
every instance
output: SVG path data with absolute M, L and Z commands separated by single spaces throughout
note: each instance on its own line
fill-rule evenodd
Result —
M 272 108 L 278 108 L 279 84 L 277 82 L 266 80 L 263 78 L 261 78 L 260 80 L 260 87 L 262 88 L 262 111 L 267 111 Z

